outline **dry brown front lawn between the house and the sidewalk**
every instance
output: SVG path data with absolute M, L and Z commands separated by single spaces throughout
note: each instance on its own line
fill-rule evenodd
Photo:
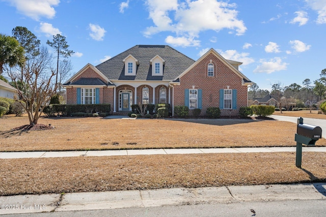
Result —
M 296 125 L 276 120 L 40 118 L 53 130 L 12 131 L 27 117 L 0 118 L 0 151 L 295 146 Z M 316 145 L 326 146 L 320 139 Z

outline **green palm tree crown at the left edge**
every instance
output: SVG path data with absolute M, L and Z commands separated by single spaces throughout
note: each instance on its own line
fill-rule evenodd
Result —
M 4 65 L 22 67 L 25 63 L 24 48 L 10 36 L 0 34 L 0 75 L 4 72 Z

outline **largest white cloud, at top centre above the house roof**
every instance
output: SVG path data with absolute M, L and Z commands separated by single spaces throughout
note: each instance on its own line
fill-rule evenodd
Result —
M 247 30 L 243 21 L 237 19 L 236 4 L 216 0 L 185 1 L 183 3 L 178 3 L 177 0 L 146 0 L 146 4 L 149 18 L 154 23 L 153 26 L 146 28 L 144 32 L 146 37 L 169 31 L 176 34 L 174 39 L 194 40 L 200 32 L 205 30 L 218 32 L 226 28 L 231 29 L 236 35 L 243 35 Z M 189 46 L 194 46 L 194 43 L 189 43 Z

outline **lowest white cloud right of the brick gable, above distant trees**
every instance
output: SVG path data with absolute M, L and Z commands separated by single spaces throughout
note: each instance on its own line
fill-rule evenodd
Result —
M 273 73 L 287 69 L 287 63 L 283 63 L 280 57 L 274 57 L 269 60 L 260 59 L 260 65 L 254 70 L 254 73 Z

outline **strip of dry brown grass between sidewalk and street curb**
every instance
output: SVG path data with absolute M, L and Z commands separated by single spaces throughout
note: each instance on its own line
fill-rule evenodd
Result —
M 326 153 L 0 159 L 0 196 L 326 181 Z

